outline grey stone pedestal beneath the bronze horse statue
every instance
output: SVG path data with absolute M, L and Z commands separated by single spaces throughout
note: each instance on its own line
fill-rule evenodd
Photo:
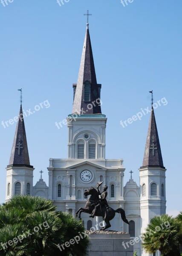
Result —
M 89 232 L 89 256 L 133 256 L 133 239 L 129 234 L 115 231 Z

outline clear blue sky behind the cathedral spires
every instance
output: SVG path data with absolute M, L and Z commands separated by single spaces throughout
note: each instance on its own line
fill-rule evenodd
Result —
M 17 89 L 23 88 L 34 184 L 42 169 L 48 185 L 50 157 L 67 157 L 67 127 L 58 129 L 55 122 L 72 112 L 72 84 L 78 78 L 87 22 L 84 13 L 89 10 L 96 76 L 102 84 L 101 109 L 108 118 L 106 158 L 123 158 L 124 183 L 132 170 L 139 184 L 150 114 L 144 111 L 141 120 L 124 127 L 120 121 L 141 108 L 150 109 L 149 90 L 153 90 L 154 102 L 163 102 L 157 103 L 154 111 L 167 168 L 167 212 L 175 215 L 182 210 L 182 1 L 6 2 L 0 3 L 0 202 L 5 199 L 5 168 L 16 127 L 16 123 L 8 123 L 4 128 L 2 121 L 19 113 Z

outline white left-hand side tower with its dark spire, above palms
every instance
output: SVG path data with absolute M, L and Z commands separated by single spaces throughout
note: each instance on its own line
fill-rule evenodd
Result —
M 13 195 L 32 195 L 34 168 L 29 160 L 22 105 L 6 170 L 6 201 Z

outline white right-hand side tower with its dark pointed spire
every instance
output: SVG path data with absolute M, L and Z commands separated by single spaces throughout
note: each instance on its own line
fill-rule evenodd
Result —
M 155 215 L 165 214 L 165 172 L 152 106 L 143 164 L 139 169 L 141 233 L 144 233 L 151 218 Z M 148 256 L 150 254 L 141 251 L 141 255 Z

